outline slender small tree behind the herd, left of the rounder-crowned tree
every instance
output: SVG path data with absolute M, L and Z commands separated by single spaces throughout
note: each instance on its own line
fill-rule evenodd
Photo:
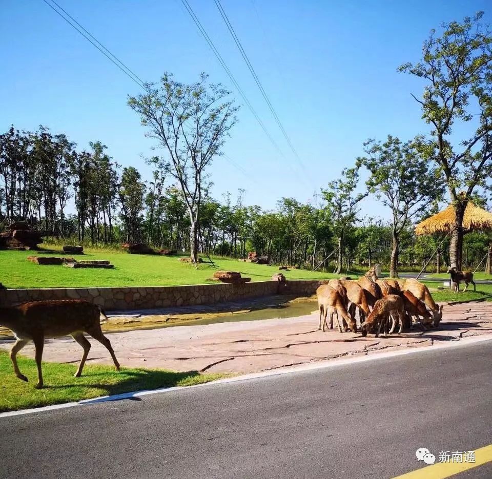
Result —
M 345 168 L 342 171 L 342 178 L 331 181 L 327 190 L 321 190 L 326 201 L 326 209 L 329 211 L 333 223 L 334 232 L 338 238 L 336 274 L 340 274 L 342 271 L 345 234 L 348 228 L 358 221 L 357 204 L 367 196 L 367 193 L 355 192 L 358 182 L 358 167 Z

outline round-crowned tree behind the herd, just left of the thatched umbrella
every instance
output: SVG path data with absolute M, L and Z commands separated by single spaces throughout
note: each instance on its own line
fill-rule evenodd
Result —
M 439 172 L 422 158 L 415 141 L 401 143 L 397 137 L 388 135 L 384 143 L 366 141 L 364 151 L 368 156 L 357 161 L 371 174 L 366 181 L 368 191 L 376 193 L 392 212 L 393 248 L 389 276 L 398 278 L 400 234 L 414 216 L 441 198 L 443 182 Z

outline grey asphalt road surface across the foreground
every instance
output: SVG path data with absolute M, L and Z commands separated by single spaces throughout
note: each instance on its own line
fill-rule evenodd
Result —
M 486 341 L 0 418 L 0 477 L 394 477 L 420 447 L 492 442 L 491 356 Z

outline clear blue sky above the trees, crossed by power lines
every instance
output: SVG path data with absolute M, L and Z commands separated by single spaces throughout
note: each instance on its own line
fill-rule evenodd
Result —
M 180 0 L 57 0 L 145 81 L 164 71 L 182 82 L 200 72 L 243 101 Z M 367 138 L 407 140 L 428 128 L 411 93 L 418 79 L 397 73 L 421 56 L 422 41 L 440 23 L 479 10 L 489 0 L 345 2 L 221 0 L 263 87 L 297 150 L 301 169 L 237 50 L 213 0 L 189 0 L 270 134 L 280 156 L 243 105 L 224 153 L 211 167 L 214 196 L 239 188 L 264 209 L 282 196 L 314 201 L 314 193 L 352 166 Z M 42 0 L 0 0 L 0 129 L 66 133 L 79 149 L 100 140 L 122 165 L 149 178 L 151 156 L 127 95 L 139 88 Z M 374 199 L 362 213 L 387 217 Z

